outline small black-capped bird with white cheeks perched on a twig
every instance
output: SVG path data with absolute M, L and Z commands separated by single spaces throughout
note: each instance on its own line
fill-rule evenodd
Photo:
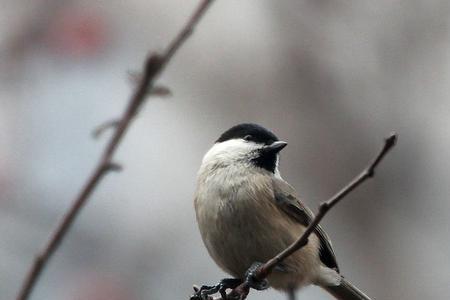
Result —
M 194 200 L 198 227 L 217 265 L 237 278 L 234 285 L 253 263 L 266 262 L 292 244 L 313 218 L 280 176 L 279 152 L 286 145 L 259 125 L 240 124 L 225 131 L 203 157 Z M 370 300 L 339 274 L 320 226 L 267 279 L 277 290 L 315 284 L 336 299 Z

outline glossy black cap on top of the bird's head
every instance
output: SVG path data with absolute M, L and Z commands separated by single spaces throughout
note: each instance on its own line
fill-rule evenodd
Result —
M 266 128 L 258 124 L 243 123 L 233 126 L 222 133 L 216 143 L 244 137 L 247 137 L 247 140 L 249 141 L 265 145 L 270 145 L 273 142 L 278 141 L 277 136 Z

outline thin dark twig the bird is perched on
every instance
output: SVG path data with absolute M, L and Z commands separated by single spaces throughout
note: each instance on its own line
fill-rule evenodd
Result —
M 325 217 L 327 212 L 339 203 L 346 195 L 360 186 L 367 179 L 372 178 L 375 175 L 375 169 L 385 155 L 391 150 L 397 141 L 397 135 L 392 133 L 388 138 L 385 139 L 383 148 L 380 150 L 378 155 L 373 159 L 373 161 L 364 169 L 361 174 L 356 176 L 347 186 L 340 190 L 328 201 L 322 202 L 319 206 L 319 212 L 314 217 L 313 221 L 306 228 L 305 232 L 289 247 L 284 249 L 278 255 L 268 260 L 264 265 L 262 265 L 256 272 L 255 278 L 257 280 L 263 280 L 272 273 L 273 269 L 286 258 L 291 256 L 294 252 L 298 251 L 308 243 L 309 236 L 314 232 L 316 227 L 319 225 L 320 221 Z M 250 292 L 250 287 L 246 282 L 239 285 L 237 288 L 232 290 L 228 295 L 228 299 L 245 299 Z M 222 297 L 214 298 L 214 300 L 226 300 Z

